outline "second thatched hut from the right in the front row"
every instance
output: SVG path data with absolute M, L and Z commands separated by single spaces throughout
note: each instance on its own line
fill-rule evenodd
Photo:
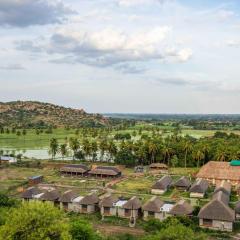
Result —
M 149 218 L 163 220 L 164 213 L 161 209 L 163 205 L 164 202 L 160 200 L 158 197 L 156 196 L 152 197 L 142 207 L 144 220 L 147 220 Z

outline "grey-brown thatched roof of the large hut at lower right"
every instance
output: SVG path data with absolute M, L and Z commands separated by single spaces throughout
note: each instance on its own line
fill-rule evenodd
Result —
M 198 217 L 233 222 L 235 220 L 235 212 L 219 199 L 213 199 L 201 208 Z

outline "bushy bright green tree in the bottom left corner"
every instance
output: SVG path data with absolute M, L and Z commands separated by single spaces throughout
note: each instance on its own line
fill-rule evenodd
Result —
M 25 202 L 13 208 L 0 228 L 0 240 L 70 240 L 69 224 L 50 203 Z

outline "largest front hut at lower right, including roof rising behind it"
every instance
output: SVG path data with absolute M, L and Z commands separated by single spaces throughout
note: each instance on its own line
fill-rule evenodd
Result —
M 229 196 L 223 191 L 216 192 L 213 199 L 204 205 L 198 214 L 200 227 L 232 231 L 235 212 L 228 204 Z

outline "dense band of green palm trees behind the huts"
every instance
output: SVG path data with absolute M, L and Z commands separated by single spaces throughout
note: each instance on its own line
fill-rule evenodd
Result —
M 214 137 L 196 139 L 181 136 L 178 131 L 163 136 L 156 132 L 142 133 L 136 138 L 134 132 L 128 140 L 119 140 L 113 135 L 97 138 L 69 138 L 59 144 L 56 138 L 50 141 L 49 152 L 54 159 L 60 153 L 64 159 L 69 154 L 73 159 L 108 161 L 134 166 L 162 162 L 172 166 L 199 167 L 210 160 L 229 161 L 240 158 L 240 137 L 236 134 L 216 132 Z

